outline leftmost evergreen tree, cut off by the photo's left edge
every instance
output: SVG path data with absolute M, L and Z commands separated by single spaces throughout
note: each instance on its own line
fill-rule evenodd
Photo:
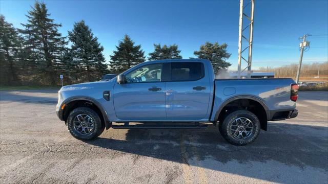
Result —
M 19 56 L 22 37 L 17 30 L 0 15 L 0 83 L 2 85 L 20 84 Z

